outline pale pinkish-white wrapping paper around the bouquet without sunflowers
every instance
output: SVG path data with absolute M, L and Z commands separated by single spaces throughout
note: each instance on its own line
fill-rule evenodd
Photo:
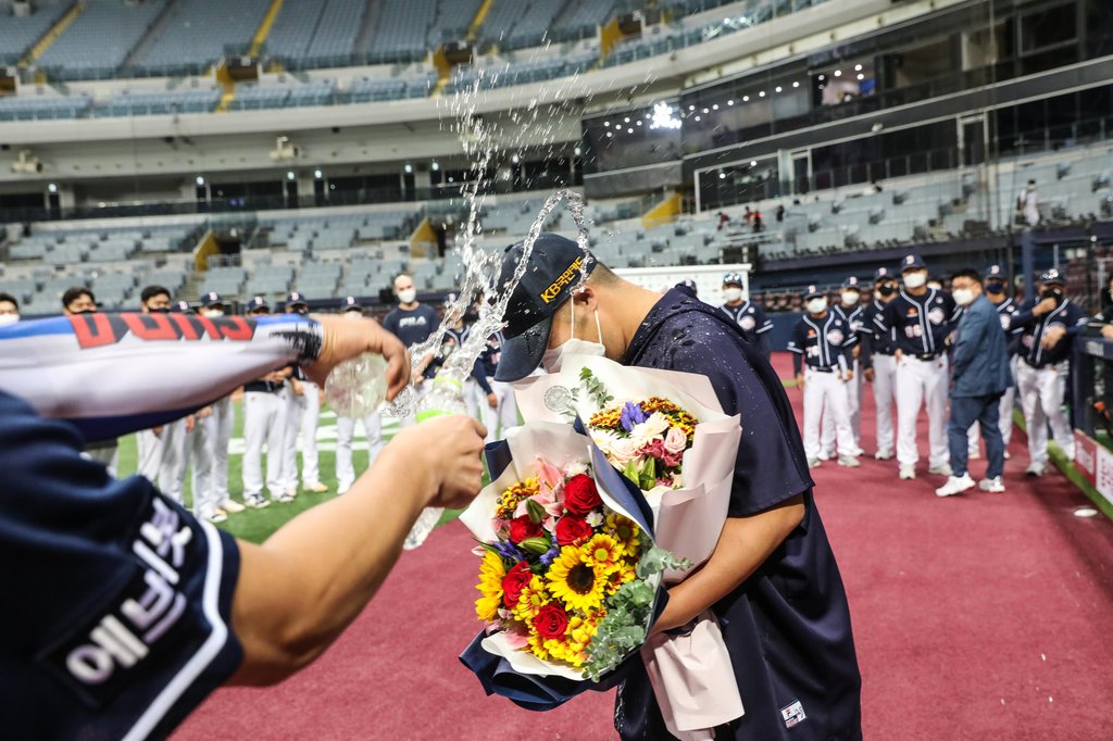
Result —
M 523 418 L 568 424 L 563 413 L 572 406 L 587 424 L 599 407 L 580 388 L 581 368 L 589 368 L 614 397 L 609 407 L 659 396 L 699 421 L 692 447 L 684 453 L 683 487 L 646 493 L 657 544 L 689 559 L 692 570 L 698 567 L 711 557 L 727 520 L 741 437 L 739 417 L 723 414 L 706 376 L 570 356 L 559 373 L 515 384 Z M 577 388 L 573 399 L 571 392 Z M 666 572 L 664 582 L 683 581 L 689 572 Z M 642 659 L 666 724 L 683 741 L 711 739 L 711 729 L 742 715 L 730 654 L 710 612 L 700 615 L 688 635 L 652 636 L 642 648 Z

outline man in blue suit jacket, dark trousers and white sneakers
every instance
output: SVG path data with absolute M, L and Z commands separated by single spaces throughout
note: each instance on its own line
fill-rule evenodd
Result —
M 979 486 L 986 492 L 1004 492 L 1001 474 L 1005 467 L 1005 443 L 997 416 L 1001 397 L 1013 385 L 1008 367 L 1008 338 L 997 309 L 982 292 L 977 270 L 961 270 L 951 279 L 955 304 L 964 307 L 955 333 L 951 358 L 951 421 L 947 441 L 953 473 L 935 490 L 939 496 L 961 494 L 974 487 L 967 471 L 971 425 L 978 422 L 985 435 L 988 468 Z

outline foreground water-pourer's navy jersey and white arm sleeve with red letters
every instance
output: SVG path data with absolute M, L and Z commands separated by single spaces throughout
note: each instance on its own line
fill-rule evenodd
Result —
M 235 540 L 81 449 L 319 348 L 304 317 L 89 314 L 0 328 L 6 738 L 164 738 L 236 671 Z

